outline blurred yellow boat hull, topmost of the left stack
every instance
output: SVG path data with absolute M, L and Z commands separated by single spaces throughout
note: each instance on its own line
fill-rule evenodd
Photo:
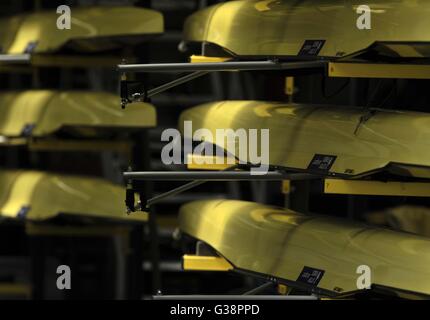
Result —
M 2 54 L 120 49 L 163 32 L 161 13 L 136 7 L 73 8 L 71 29 L 58 29 L 55 10 L 0 20 Z M 26 52 L 28 51 L 28 52 Z

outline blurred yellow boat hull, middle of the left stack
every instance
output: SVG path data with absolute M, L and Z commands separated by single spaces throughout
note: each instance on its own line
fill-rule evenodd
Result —
M 42 137 L 64 127 L 115 129 L 155 125 L 154 106 L 135 103 L 121 110 L 119 98 L 112 93 L 54 90 L 0 93 L 1 136 Z

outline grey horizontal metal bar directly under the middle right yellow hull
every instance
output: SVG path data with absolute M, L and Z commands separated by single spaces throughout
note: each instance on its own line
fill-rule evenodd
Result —
M 261 175 L 253 175 L 248 171 L 142 171 L 123 173 L 124 178 L 131 180 L 149 181 L 281 181 L 281 180 L 309 180 L 315 179 L 314 175 L 307 173 L 284 173 L 281 171 L 269 171 Z

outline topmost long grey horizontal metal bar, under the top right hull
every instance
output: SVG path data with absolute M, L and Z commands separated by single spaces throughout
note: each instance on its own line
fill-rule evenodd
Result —
M 120 64 L 118 65 L 118 70 L 121 72 L 257 71 L 322 68 L 326 65 L 326 61 L 235 61 L 205 63 Z

